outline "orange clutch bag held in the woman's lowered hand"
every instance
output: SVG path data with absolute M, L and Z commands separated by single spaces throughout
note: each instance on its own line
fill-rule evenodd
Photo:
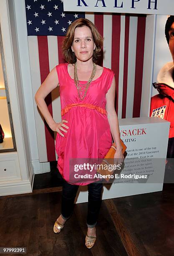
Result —
M 124 144 L 124 142 L 120 139 L 120 142 L 121 142 L 121 146 L 123 148 L 122 152 L 124 154 L 124 152 L 126 151 L 126 145 Z M 101 162 L 100 165 L 102 166 L 106 166 L 111 164 L 113 165 L 114 164 L 114 154 L 116 153 L 116 144 L 115 143 L 112 143 L 112 146 L 111 148 L 109 149 L 108 153 L 106 154 L 105 158 L 103 159 L 103 161 Z M 97 169 L 97 173 L 101 174 L 101 175 L 112 175 L 114 170 L 111 170 L 109 171 L 108 169 L 104 169 L 104 167 L 102 168 L 102 166 L 100 167 L 100 169 L 98 170 Z M 106 177 L 103 177 L 103 179 L 105 179 L 107 182 L 109 181 L 110 177 L 109 176 L 106 176 Z

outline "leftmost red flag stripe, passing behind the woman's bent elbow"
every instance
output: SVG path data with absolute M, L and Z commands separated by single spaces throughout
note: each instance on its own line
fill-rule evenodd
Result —
M 38 36 L 38 51 L 39 51 L 39 64 L 40 64 L 40 79 L 41 79 L 41 83 L 43 83 L 45 78 L 48 76 L 50 72 L 47 36 Z M 47 97 L 45 97 L 45 102 L 50 114 L 53 116 L 51 93 L 49 93 Z M 45 138 L 46 138 L 48 162 L 55 161 L 56 159 L 55 159 L 54 132 L 49 128 L 45 119 L 44 119 L 44 124 L 45 124 Z

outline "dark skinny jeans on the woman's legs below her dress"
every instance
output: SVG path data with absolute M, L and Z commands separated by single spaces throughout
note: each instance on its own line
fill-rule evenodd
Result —
M 61 216 L 67 220 L 73 213 L 74 200 L 79 185 L 73 185 L 63 179 Z M 101 193 L 103 183 L 88 184 L 88 213 L 86 224 L 88 228 L 93 228 L 97 224 L 98 214 L 101 207 Z

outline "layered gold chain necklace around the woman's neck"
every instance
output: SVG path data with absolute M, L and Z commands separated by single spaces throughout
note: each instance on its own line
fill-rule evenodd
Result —
M 93 63 L 93 71 L 92 71 L 92 74 L 91 74 L 91 77 L 90 79 L 88 80 L 88 82 L 86 84 L 81 84 L 79 81 L 78 81 L 78 76 L 77 76 L 77 62 L 75 63 L 75 66 L 74 66 L 74 82 L 76 84 L 76 87 L 77 87 L 77 91 L 78 91 L 78 97 L 83 100 L 84 97 L 86 96 L 86 92 L 88 90 L 88 87 L 89 85 L 91 84 L 91 81 L 92 79 L 94 78 L 96 74 L 96 64 Z M 85 90 L 85 93 L 83 95 L 83 97 L 81 98 L 81 95 L 82 95 L 82 92 Z

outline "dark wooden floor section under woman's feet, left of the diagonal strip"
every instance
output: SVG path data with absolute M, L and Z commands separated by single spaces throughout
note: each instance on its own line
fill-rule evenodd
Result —
M 26 247 L 27 255 L 127 255 L 104 202 L 90 250 L 84 244 L 87 203 L 75 204 L 72 217 L 56 234 L 53 224 L 60 208 L 61 192 L 0 198 L 0 246 Z

